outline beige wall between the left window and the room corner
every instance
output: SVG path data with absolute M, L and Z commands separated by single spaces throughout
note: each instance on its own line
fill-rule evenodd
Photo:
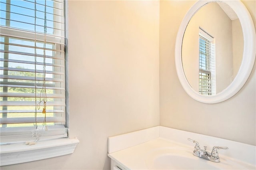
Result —
M 4 169 L 110 169 L 109 136 L 159 125 L 159 2 L 68 1 L 73 154 Z

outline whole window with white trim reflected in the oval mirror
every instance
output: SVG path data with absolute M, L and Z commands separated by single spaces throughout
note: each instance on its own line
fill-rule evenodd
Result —
M 199 33 L 199 93 L 216 94 L 214 38 L 200 29 Z

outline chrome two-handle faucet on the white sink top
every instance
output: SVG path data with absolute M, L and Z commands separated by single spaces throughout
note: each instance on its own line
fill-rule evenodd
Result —
M 217 149 L 228 149 L 228 147 L 220 147 L 220 146 L 214 146 L 212 148 L 212 152 L 207 152 L 206 148 L 207 146 L 204 146 L 204 149 L 200 148 L 199 143 L 196 140 L 192 140 L 188 138 L 189 141 L 195 143 L 193 155 L 198 156 L 200 158 L 210 160 L 212 162 L 220 162 L 220 158 L 217 152 Z

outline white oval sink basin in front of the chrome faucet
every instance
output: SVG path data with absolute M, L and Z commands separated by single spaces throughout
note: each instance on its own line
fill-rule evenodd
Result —
M 192 154 L 188 148 L 158 148 L 147 153 L 146 166 L 150 170 L 190 169 L 190 170 L 218 170 L 218 169 L 254 169 L 254 166 L 220 157 L 220 162 L 211 162 Z

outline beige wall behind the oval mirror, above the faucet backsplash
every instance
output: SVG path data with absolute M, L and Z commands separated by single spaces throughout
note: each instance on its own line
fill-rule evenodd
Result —
M 256 1 L 242 2 L 256 25 Z M 244 87 L 217 104 L 195 101 L 178 80 L 174 63 L 176 35 L 194 3 L 160 1 L 160 125 L 256 145 L 255 65 Z

